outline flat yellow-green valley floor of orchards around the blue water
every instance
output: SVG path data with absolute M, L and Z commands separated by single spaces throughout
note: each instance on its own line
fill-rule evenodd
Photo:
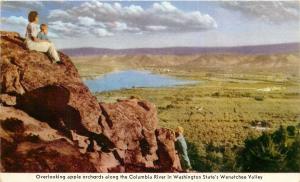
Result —
M 209 143 L 218 147 L 241 146 L 249 135 L 272 131 L 280 125 L 300 126 L 300 82 L 297 75 L 109 63 L 104 66 L 103 62 L 95 60 L 75 59 L 75 65 L 85 78 L 115 69 L 133 68 L 203 81 L 172 88 L 96 93 L 101 102 L 115 102 L 131 96 L 149 100 L 157 107 L 159 125 L 171 129 L 178 125 L 184 127 L 186 138 L 199 150 Z M 101 68 L 97 69 L 95 65 Z

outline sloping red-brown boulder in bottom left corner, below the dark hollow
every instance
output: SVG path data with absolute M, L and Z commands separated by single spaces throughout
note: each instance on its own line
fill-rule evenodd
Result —
M 2 171 L 96 172 L 87 154 L 47 123 L 0 106 Z

